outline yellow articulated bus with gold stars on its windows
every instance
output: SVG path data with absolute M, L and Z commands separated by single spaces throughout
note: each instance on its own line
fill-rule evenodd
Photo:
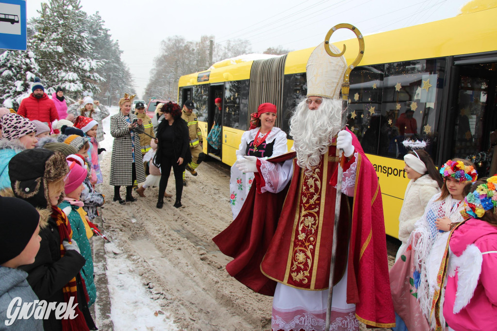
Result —
M 347 126 L 374 165 L 383 194 L 386 232 L 398 237 L 398 217 L 408 183 L 402 144 L 427 142 L 435 165 L 469 158 L 480 177 L 495 173 L 497 143 L 497 5 L 431 23 L 364 36 L 365 52 L 350 77 Z M 360 28 L 360 26 L 359 26 Z M 323 36 L 327 31 L 323 31 Z M 345 44 L 352 58 L 357 40 Z M 204 153 L 233 165 L 249 114 L 276 104 L 277 126 L 306 96 L 306 63 L 313 48 L 266 60 L 217 63 L 182 76 L 178 100 L 195 102 L 204 137 L 212 127 L 214 99 L 222 98 L 222 150 Z M 291 139 L 291 137 L 289 137 Z M 288 143 L 289 148 L 292 141 Z

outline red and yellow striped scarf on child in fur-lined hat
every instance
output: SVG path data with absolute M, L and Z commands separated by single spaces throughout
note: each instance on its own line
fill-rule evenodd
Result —
M 57 229 L 59 230 L 60 243 L 61 243 L 60 247 L 61 257 L 63 257 L 66 254 L 66 249 L 62 245 L 62 242 L 64 240 L 69 239 L 70 240 L 69 243 L 72 243 L 71 240 L 73 238 L 73 230 L 71 229 L 71 224 L 69 223 L 66 214 L 57 206 L 52 206 L 52 219 L 55 220 L 55 222 L 57 223 Z M 84 285 L 83 277 L 81 277 L 81 275 L 77 276 L 81 278 L 84 296 L 86 298 L 86 302 L 88 302 L 89 297 L 88 293 L 86 292 L 86 286 Z M 74 303 L 78 303 L 78 286 L 76 282 L 76 277 L 73 277 L 73 279 L 71 279 L 69 283 L 64 285 L 62 291 L 64 293 L 65 302 L 69 303 L 70 298 L 73 297 Z M 62 330 L 63 331 L 89 330 L 88 326 L 86 325 L 83 313 L 79 308 L 79 305 L 77 305 L 75 308 L 75 315 L 77 315 L 77 317 L 74 320 L 69 320 L 69 319 L 61 320 Z

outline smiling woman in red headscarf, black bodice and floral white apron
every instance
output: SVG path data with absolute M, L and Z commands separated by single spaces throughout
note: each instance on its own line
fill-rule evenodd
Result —
M 250 115 L 250 130 L 242 135 L 242 141 L 237 153 L 237 160 L 244 156 L 254 156 L 268 159 L 288 152 L 286 133 L 274 127 L 276 122 L 276 106 L 272 103 L 262 103 L 257 112 Z M 242 209 L 247 197 L 254 174 L 243 173 L 235 165 L 231 167 L 230 203 L 233 219 Z

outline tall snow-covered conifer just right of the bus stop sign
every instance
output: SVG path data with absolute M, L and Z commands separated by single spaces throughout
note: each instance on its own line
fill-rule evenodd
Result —
M 50 0 L 42 3 L 38 13 L 31 42 L 47 92 L 61 85 L 75 97 L 84 90 L 97 94 L 98 84 L 104 81 L 97 73 L 103 62 L 95 59 L 88 43 L 87 15 L 80 1 Z

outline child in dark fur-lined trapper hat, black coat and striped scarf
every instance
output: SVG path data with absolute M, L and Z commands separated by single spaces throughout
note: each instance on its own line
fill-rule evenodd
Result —
M 57 319 L 47 312 L 45 330 L 96 330 L 86 305 L 88 296 L 80 270 L 85 263 L 66 214 L 57 205 L 64 200 L 65 178 L 69 172 L 62 153 L 44 148 L 25 150 L 9 163 L 14 196 L 50 215 L 41 227 L 41 246 L 35 262 L 22 266 L 28 283 L 39 300 L 78 304 L 75 319 Z

